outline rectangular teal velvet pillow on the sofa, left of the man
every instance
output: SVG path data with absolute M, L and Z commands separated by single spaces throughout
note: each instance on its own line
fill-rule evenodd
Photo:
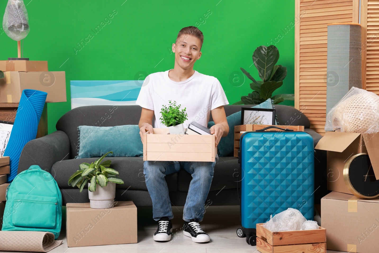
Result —
M 75 158 L 109 156 L 143 156 L 138 125 L 114 127 L 79 126 L 78 156 Z

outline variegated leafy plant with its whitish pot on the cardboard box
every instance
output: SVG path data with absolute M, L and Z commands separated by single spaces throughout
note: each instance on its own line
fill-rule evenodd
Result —
M 109 168 L 111 160 L 102 162 L 104 157 L 112 151 L 106 153 L 91 164 L 83 162 L 79 165 L 80 170 L 76 171 L 69 178 L 69 185 L 75 185 L 83 190 L 88 181 L 88 197 L 91 208 L 111 208 L 116 196 L 116 184 L 124 184 L 121 178 L 117 178 L 118 171 Z M 99 187 L 100 186 L 100 187 Z

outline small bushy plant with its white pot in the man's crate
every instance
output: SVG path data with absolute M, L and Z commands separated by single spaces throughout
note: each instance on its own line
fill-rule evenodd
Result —
M 169 102 L 169 106 L 162 105 L 161 109 L 161 123 L 168 127 L 170 134 L 183 134 L 183 123 L 186 121 L 188 115 L 186 108 L 180 110 L 180 105 L 176 104 L 176 101 Z

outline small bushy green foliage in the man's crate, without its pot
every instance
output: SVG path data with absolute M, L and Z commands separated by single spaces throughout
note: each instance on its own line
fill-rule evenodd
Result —
M 168 102 L 168 107 L 166 105 L 162 105 L 162 116 L 159 118 L 161 120 L 161 123 L 167 127 L 183 124 L 184 121 L 186 121 L 188 118 L 186 108 L 180 110 L 180 105 L 177 105 L 176 101 L 171 102 L 170 100 Z

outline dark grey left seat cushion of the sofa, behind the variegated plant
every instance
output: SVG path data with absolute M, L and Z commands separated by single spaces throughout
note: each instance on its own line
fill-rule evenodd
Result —
M 72 188 L 68 185 L 69 177 L 79 169 L 80 163 L 94 162 L 97 157 L 94 158 L 80 158 L 62 160 L 54 163 L 51 174 L 58 186 L 61 188 Z M 107 160 L 111 160 L 110 168 L 117 170 L 119 178 L 124 180 L 124 184 L 117 184 L 117 188 L 122 189 L 135 189 L 135 190 L 147 190 L 145 184 L 145 176 L 143 174 L 143 158 L 142 157 L 106 157 Z M 169 191 L 177 190 L 177 174 L 170 174 L 166 176 L 166 182 L 169 187 Z M 87 186 L 86 186 L 87 187 Z

